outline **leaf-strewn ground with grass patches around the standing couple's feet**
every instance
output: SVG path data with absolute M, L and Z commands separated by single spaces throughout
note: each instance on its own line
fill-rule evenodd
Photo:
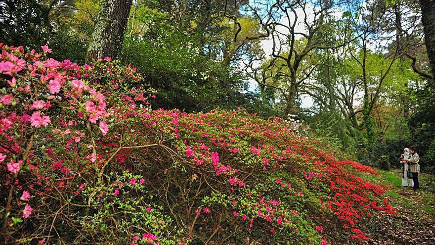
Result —
M 421 191 L 402 187 L 400 170 L 377 169 L 379 176 L 365 176 L 376 184 L 392 186 L 387 192 L 397 215 L 379 213 L 368 224 L 368 244 L 435 245 L 435 175 L 419 175 Z

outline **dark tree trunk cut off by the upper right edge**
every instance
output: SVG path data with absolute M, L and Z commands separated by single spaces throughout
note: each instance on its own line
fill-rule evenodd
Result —
M 420 0 L 422 8 L 422 24 L 425 32 L 425 43 L 429 62 L 435 80 L 435 0 Z

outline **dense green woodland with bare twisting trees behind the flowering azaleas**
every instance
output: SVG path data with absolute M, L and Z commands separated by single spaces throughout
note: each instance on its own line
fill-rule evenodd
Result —
M 125 30 L 104 29 L 111 14 Z M 0 41 L 81 64 L 117 56 L 158 91 L 155 108 L 301 120 L 363 163 L 398 166 L 414 144 L 433 171 L 434 16 L 432 0 L 1 0 Z

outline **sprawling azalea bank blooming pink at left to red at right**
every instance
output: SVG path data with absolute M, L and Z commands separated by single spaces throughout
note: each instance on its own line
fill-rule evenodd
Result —
M 394 213 L 386 186 L 243 108 L 151 109 L 140 74 L 110 58 L 2 49 L 0 215 L 10 244 L 322 244 L 364 241 Z

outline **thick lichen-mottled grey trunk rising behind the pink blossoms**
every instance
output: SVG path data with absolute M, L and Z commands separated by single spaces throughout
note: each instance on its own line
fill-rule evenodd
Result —
M 86 61 L 116 57 L 121 50 L 132 0 L 102 0 Z

